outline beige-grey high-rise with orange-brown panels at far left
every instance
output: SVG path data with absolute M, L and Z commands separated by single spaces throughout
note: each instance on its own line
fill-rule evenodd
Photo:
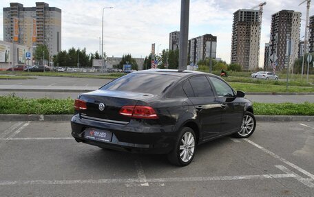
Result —
M 3 8 L 3 38 L 28 47 L 47 45 L 53 56 L 61 51 L 61 10 L 43 2 L 28 8 L 10 3 Z

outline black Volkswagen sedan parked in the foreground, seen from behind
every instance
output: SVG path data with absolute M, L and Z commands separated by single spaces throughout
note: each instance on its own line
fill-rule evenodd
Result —
M 79 95 L 71 119 L 78 142 L 104 149 L 167 154 L 191 163 L 196 146 L 218 137 L 249 137 L 252 103 L 208 73 L 147 70 L 129 73 Z

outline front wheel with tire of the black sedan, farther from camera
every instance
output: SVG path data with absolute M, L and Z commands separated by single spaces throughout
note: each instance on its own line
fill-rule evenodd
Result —
M 234 137 L 247 138 L 250 137 L 256 128 L 256 120 L 253 113 L 247 111 L 243 115 L 241 129 L 235 132 Z

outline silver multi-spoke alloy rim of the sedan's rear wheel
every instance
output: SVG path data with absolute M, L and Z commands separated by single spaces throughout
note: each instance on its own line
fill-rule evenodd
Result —
M 186 132 L 180 141 L 179 153 L 183 162 L 188 162 L 193 157 L 195 149 L 195 139 L 191 132 Z

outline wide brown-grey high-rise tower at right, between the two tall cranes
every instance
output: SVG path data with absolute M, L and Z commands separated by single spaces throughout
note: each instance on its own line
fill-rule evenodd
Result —
M 277 59 L 277 70 L 292 65 L 299 54 L 301 12 L 282 10 L 271 15 L 271 40 L 269 41 L 270 56 Z M 286 54 L 287 40 L 291 40 L 291 55 Z M 289 62 L 288 62 L 289 58 Z M 273 61 L 271 59 L 271 61 Z

